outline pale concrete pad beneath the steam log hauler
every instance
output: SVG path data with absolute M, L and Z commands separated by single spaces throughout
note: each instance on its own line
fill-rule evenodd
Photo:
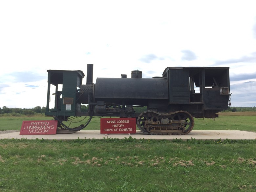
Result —
M 256 132 L 249 131 L 213 131 L 213 130 L 192 130 L 187 135 L 144 135 L 137 131 L 136 134 L 100 134 L 100 131 L 85 130 L 73 134 L 56 134 L 56 135 L 19 135 L 20 132 L 5 133 L 0 135 L 0 139 L 103 139 L 103 138 L 117 138 L 124 139 L 128 137 L 136 139 L 256 139 Z

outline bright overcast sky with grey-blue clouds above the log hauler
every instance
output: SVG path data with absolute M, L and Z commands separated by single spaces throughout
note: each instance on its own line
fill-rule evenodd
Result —
M 0 107 L 46 106 L 47 72 L 161 76 L 230 67 L 231 104 L 256 106 L 256 1 L 0 1 Z M 86 78 L 84 79 L 84 84 Z

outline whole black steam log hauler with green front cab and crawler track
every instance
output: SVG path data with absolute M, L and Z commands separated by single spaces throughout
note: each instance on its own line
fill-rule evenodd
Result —
M 194 127 L 195 118 L 215 118 L 230 105 L 229 67 L 167 67 L 162 76 L 142 78 L 132 71 L 131 78 L 97 78 L 93 64 L 87 65 L 86 84 L 82 71 L 47 70 L 47 116 L 58 120 L 57 133 L 73 133 L 85 128 L 92 117 L 135 117 L 145 134 L 181 135 Z M 51 93 L 52 86 L 55 93 Z M 50 109 L 51 97 L 55 97 Z M 81 104 L 89 111 L 81 112 Z M 142 113 L 135 107 L 146 106 Z M 64 121 L 89 117 L 85 124 L 70 128 Z

